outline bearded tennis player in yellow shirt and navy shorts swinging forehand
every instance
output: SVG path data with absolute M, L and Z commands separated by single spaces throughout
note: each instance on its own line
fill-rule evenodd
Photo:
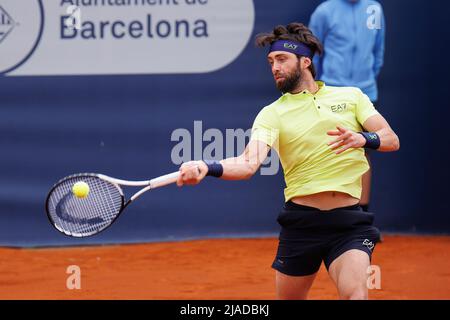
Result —
M 184 163 L 177 184 L 198 184 L 205 176 L 249 179 L 274 148 L 286 182 L 272 264 L 277 297 L 306 299 L 324 261 L 341 299 L 367 299 L 367 270 L 380 233 L 373 214 L 359 205 L 369 169 L 364 148 L 396 151 L 399 139 L 360 89 L 315 81 L 312 59 L 322 44 L 306 26 L 277 26 L 256 43 L 269 47 L 283 95 L 259 112 L 242 155 Z

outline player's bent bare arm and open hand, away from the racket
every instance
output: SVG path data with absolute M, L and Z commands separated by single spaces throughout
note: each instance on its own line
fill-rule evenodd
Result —
M 381 114 L 375 114 L 369 117 L 363 124 L 368 133 L 375 133 L 379 139 L 379 147 L 376 149 L 381 152 L 392 152 L 400 149 L 400 140 L 392 130 L 389 123 Z M 349 148 L 363 148 L 367 144 L 367 139 L 359 132 L 354 132 L 343 126 L 337 126 L 337 130 L 327 132 L 330 136 L 336 138 L 328 143 L 336 154 L 340 154 Z

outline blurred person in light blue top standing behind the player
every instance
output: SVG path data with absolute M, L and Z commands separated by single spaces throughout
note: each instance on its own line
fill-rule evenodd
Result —
M 385 38 L 380 3 L 325 1 L 311 15 L 309 27 L 324 45 L 324 54 L 314 58 L 317 78 L 332 86 L 358 87 L 377 107 L 376 79 L 383 65 Z M 362 185 L 361 206 L 368 211 L 371 170 L 363 176 Z

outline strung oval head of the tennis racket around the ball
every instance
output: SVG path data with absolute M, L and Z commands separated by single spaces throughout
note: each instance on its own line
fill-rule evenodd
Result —
M 72 193 L 73 185 L 79 181 L 89 185 L 85 198 Z M 47 205 L 60 231 L 81 237 L 108 227 L 122 209 L 123 196 L 117 186 L 95 176 L 81 175 L 61 181 L 50 194 Z

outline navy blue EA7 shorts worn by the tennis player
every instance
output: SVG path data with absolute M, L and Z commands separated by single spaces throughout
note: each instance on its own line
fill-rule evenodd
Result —
M 380 231 L 374 215 L 359 205 L 321 211 L 287 202 L 278 216 L 281 225 L 272 268 L 290 276 L 316 273 L 322 261 L 327 270 L 344 252 L 358 249 L 372 258 Z

